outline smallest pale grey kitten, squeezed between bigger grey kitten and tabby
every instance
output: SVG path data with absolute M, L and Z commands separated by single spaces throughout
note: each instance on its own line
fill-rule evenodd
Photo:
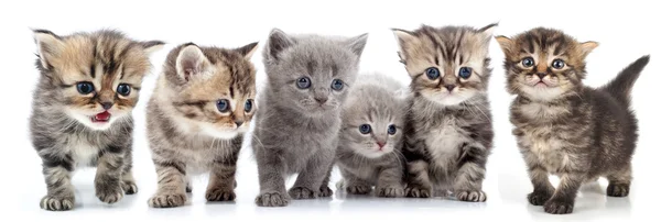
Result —
M 378 197 L 404 195 L 401 154 L 408 103 L 405 88 L 383 75 L 361 75 L 342 111 L 336 163 L 343 176 L 338 189 Z

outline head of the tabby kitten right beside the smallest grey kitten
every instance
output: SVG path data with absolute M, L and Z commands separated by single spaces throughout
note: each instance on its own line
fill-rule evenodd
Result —
M 486 93 L 490 76 L 489 41 L 496 24 L 393 30 L 411 90 L 442 106 L 455 106 Z

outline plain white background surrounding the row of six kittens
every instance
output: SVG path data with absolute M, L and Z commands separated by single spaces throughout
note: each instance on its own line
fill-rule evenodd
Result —
M 261 220 L 653 220 L 658 221 L 659 156 L 658 60 L 661 59 L 657 23 L 661 21 L 653 2 L 639 1 L 8 1 L 0 3 L 2 38 L 0 70 L 3 78 L 2 151 L 0 164 L 0 217 L 9 221 L 226 221 L 229 218 Z M 655 22 L 654 22 L 655 21 Z M 409 81 L 395 54 L 395 42 L 389 29 L 413 30 L 420 24 L 484 26 L 500 25 L 496 34 L 513 35 L 544 25 L 557 27 L 579 41 L 597 41 L 599 47 L 588 56 L 588 86 L 600 86 L 638 57 L 651 54 L 633 90 L 633 108 L 640 120 L 639 148 L 633 157 L 633 185 L 628 198 L 607 198 L 606 182 L 582 189 L 574 214 L 549 215 L 532 207 L 525 195 L 532 190 L 525 168 L 511 135 L 505 91 L 502 53 L 491 43 L 494 75 L 489 93 L 492 100 L 496 141 L 487 166 L 484 189 L 486 203 L 466 203 L 443 199 L 377 199 L 338 197 L 323 200 L 293 201 L 279 209 L 258 208 L 256 163 L 249 147 L 241 152 L 238 166 L 238 199 L 235 203 L 206 203 L 206 177 L 194 184 L 189 204 L 177 209 L 150 209 L 148 198 L 155 190 L 155 173 L 144 136 L 144 104 L 167 52 L 177 44 L 238 47 L 250 42 L 263 43 L 272 27 L 290 33 L 358 35 L 369 32 L 362 56 L 365 71 L 381 71 Z M 47 212 L 39 208 L 45 195 L 41 160 L 29 141 L 28 118 L 31 95 L 37 79 L 34 68 L 35 46 L 30 29 L 47 29 L 66 35 L 76 31 L 101 27 L 118 29 L 138 40 L 162 40 L 165 48 L 152 57 L 154 69 L 145 78 L 141 101 L 134 110 L 134 169 L 140 192 L 120 203 L 107 206 L 94 196 L 94 170 L 80 170 L 74 177 L 76 207 L 69 212 Z M 258 84 L 263 85 L 261 48 L 252 62 L 259 69 Z M 333 181 L 339 175 L 334 174 Z M 554 180 L 556 181 L 556 180 Z M 291 181 L 290 181 L 291 182 Z M 647 221 L 646 220 L 646 221 Z M 2 221 L 8 221 L 2 219 Z

